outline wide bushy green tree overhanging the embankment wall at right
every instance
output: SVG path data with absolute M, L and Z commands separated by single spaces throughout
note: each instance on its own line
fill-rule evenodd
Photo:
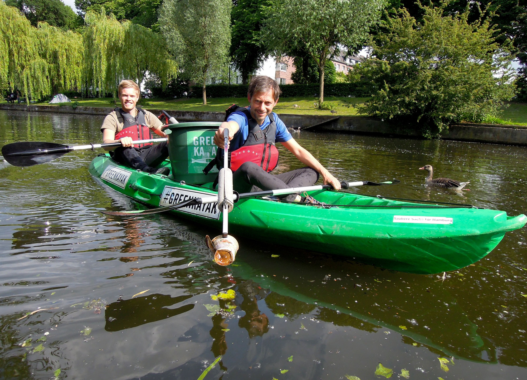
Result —
M 495 116 L 512 94 L 512 55 L 496 42 L 490 20 L 469 23 L 467 12 L 423 9 L 422 22 L 405 9 L 387 17 L 370 43 L 372 57 L 357 66 L 363 83 L 375 86 L 363 112 L 427 137 L 452 122 Z

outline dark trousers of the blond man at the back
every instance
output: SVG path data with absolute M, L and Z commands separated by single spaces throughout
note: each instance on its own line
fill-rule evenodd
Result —
M 112 158 L 125 166 L 145 172 L 155 172 L 155 168 L 168 157 L 166 141 L 143 148 L 118 147 L 113 151 Z

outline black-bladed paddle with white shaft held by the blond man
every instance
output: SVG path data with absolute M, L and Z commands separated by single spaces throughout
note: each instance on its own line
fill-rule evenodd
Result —
M 144 144 L 148 142 L 162 142 L 167 141 L 163 139 L 150 139 L 150 140 L 139 140 L 134 141 L 134 144 Z M 52 161 L 61 155 L 74 150 L 86 150 L 86 149 L 99 149 L 105 147 L 120 147 L 120 142 L 111 142 L 108 144 L 89 144 L 89 145 L 69 145 L 57 144 L 54 142 L 40 142 L 40 141 L 27 141 L 27 142 L 14 142 L 11 144 L 4 145 L 2 147 L 2 155 L 4 159 L 12 164 L 13 166 L 32 166 L 39 163 Z

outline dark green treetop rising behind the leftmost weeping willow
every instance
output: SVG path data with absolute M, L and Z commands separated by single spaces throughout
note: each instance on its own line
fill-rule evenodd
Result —
M 45 22 L 62 29 L 76 29 L 83 23 L 82 17 L 61 0 L 6 0 L 5 3 L 18 8 L 33 26 Z

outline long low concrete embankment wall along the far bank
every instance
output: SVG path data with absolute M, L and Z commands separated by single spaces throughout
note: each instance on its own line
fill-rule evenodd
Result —
M 51 106 L 4 103 L 0 104 L 0 110 L 75 113 L 104 116 L 110 113 L 113 108 L 77 106 L 73 109 L 71 105 Z M 150 108 L 148 110 L 154 114 L 161 113 L 161 110 Z M 223 112 L 170 111 L 169 113 L 179 122 L 223 121 L 223 118 L 225 117 L 225 113 Z M 419 138 L 415 133 L 398 128 L 394 124 L 368 118 L 366 116 L 293 115 L 283 113 L 279 115 L 280 119 L 282 119 L 287 126 L 306 131 L 328 131 Z M 442 138 L 445 140 L 527 146 L 527 126 L 460 123 L 458 125 L 451 125 L 448 131 L 442 135 Z

